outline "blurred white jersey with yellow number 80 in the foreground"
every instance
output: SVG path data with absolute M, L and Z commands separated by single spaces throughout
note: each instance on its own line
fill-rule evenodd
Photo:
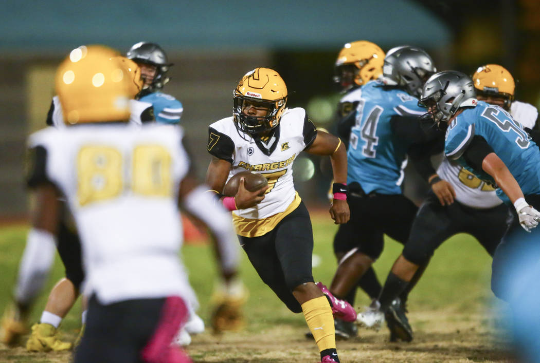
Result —
M 82 124 L 30 136 L 29 184 L 64 194 L 83 246 L 86 291 L 103 304 L 192 290 L 178 252 L 179 183 L 188 170 L 178 126 Z M 41 156 L 39 156 L 41 155 Z

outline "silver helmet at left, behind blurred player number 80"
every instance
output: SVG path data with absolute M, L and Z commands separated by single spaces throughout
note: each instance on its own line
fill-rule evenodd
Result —
M 166 73 L 172 63 L 168 63 L 167 54 L 159 45 L 148 42 L 133 44 L 131 49 L 127 51 L 126 57 L 136 63 L 145 63 L 157 67 L 156 76 L 151 85 L 153 90 L 160 90 L 170 80 L 170 78 L 166 77 Z

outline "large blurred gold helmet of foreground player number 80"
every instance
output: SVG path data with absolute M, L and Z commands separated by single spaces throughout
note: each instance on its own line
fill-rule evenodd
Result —
M 118 52 L 100 45 L 71 51 L 55 78 L 66 124 L 129 119 L 129 99 L 137 87 L 125 64 Z

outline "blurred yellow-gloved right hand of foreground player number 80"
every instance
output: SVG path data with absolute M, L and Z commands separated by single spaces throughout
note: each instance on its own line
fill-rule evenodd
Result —
M 211 324 L 214 333 L 227 330 L 240 330 L 245 326 L 242 307 L 246 303 L 248 292 L 241 282 L 229 285 L 221 284 L 212 296 Z

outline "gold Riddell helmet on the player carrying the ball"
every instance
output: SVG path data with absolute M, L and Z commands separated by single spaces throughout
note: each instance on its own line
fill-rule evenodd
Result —
M 245 74 L 233 92 L 234 123 L 239 131 L 252 137 L 279 125 L 287 104 L 287 86 L 278 72 L 268 68 L 255 68 Z M 266 108 L 266 115 L 247 115 L 247 105 Z

